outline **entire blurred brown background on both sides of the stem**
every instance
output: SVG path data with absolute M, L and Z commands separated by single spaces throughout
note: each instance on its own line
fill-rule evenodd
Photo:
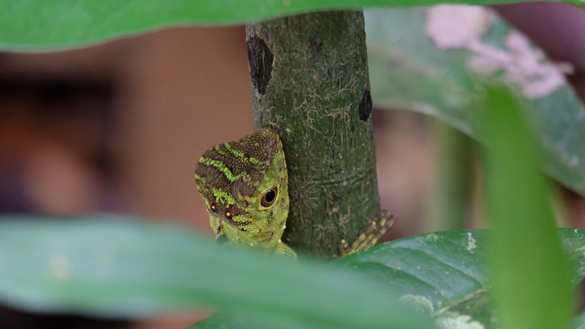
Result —
M 585 11 L 552 3 L 497 10 L 553 60 L 574 64 L 570 80 L 583 98 Z M 249 79 L 243 26 L 0 54 L 0 213 L 128 213 L 211 234 L 194 169 L 208 148 L 253 130 Z M 373 115 L 382 206 L 400 219 L 387 238 L 425 232 L 435 180 L 433 121 L 400 110 Z M 563 196 L 570 225 L 585 228 L 585 199 L 566 190 Z M 478 207 L 468 227 L 484 225 Z M 0 329 L 181 329 L 208 314 L 130 323 L 5 308 Z

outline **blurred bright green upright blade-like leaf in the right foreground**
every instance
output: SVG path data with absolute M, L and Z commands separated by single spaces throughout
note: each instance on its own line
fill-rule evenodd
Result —
M 549 202 L 549 181 L 521 113 L 505 87 L 488 87 L 483 113 L 486 216 L 494 300 L 502 328 L 567 328 L 569 273 Z

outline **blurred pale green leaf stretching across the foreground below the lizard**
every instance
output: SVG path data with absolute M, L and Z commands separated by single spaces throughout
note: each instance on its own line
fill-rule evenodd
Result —
M 133 317 L 205 304 L 314 327 L 430 325 L 358 273 L 221 248 L 186 229 L 0 219 L 0 300 L 22 309 Z

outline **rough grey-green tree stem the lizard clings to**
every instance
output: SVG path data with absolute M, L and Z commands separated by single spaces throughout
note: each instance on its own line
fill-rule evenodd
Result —
M 380 211 L 363 12 L 251 23 L 246 37 L 254 128 L 275 129 L 287 157 L 283 241 L 335 258 Z

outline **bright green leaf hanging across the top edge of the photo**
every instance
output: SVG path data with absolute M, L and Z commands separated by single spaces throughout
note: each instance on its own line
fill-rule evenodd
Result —
M 517 2 L 522 2 L 521 0 Z M 1 0 L 0 49 L 79 47 L 178 25 L 244 23 L 294 13 L 364 6 L 429 6 L 508 0 Z M 584 5 L 584 0 L 566 0 Z

